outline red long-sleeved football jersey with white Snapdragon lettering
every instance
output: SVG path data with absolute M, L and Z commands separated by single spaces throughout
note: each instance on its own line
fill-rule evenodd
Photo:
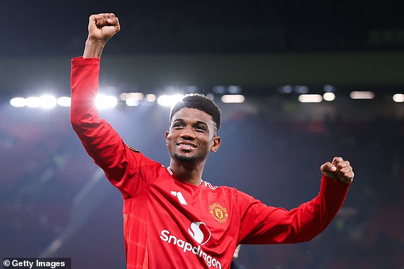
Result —
M 329 225 L 348 185 L 323 176 L 320 192 L 296 209 L 267 206 L 244 192 L 192 185 L 128 147 L 94 98 L 99 58 L 73 58 L 71 122 L 82 144 L 122 192 L 127 268 L 229 268 L 237 244 L 304 242 Z

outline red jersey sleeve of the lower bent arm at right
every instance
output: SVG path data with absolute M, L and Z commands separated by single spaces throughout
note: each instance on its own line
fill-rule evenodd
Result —
M 239 244 L 306 242 L 319 235 L 341 208 L 349 185 L 322 177 L 320 192 L 310 202 L 286 210 L 267 206 L 244 192 L 236 193 L 241 214 Z

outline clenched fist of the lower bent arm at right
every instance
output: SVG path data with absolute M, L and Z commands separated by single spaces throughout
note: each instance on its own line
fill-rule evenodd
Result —
M 346 184 L 353 181 L 353 169 L 348 161 L 344 161 L 341 157 L 334 157 L 332 162 L 326 162 L 320 167 L 321 172 L 327 178 L 335 179 Z

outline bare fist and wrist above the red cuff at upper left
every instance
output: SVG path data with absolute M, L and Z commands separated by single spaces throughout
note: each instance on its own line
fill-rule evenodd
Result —
M 83 58 L 100 58 L 106 41 L 120 31 L 118 17 L 113 13 L 91 15 L 88 30 Z

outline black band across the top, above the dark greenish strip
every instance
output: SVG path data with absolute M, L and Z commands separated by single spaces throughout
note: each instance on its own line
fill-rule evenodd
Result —
M 403 48 L 400 1 L 4 1 L 2 56 L 77 54 L 87 18 L 113 12 L 111 53 Z M 248 38 L 249 37 L 249 38 Z

